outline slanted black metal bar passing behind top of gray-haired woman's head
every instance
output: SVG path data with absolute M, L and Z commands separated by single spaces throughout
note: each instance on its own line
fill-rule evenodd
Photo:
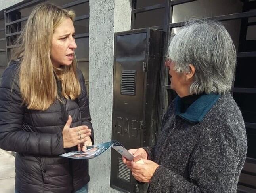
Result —
M 247 12 L 243 12 L 243 13 L 233 13 L 233 14 L 229 14 L 229 15 L 206 17 L 206 18 L 201 18 L 201 20 L 228 21 L 228 20 L 233 20 L 233 19 L 243 19 L 243 18 L 255 17 L 255 16 L 256 16 L 256 11 L 247 11 Z M 170 23 L 170 28 L 182 27 L 185 24 L 186 24 L 185 21 L 181 21 L 178 23 Z

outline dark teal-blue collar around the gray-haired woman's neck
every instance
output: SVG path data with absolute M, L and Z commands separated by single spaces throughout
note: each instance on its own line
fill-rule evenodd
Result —
M 220 95 L 215 94 L 202 95 L 193 102 L 184 113 L 181 113 L 182 101 L 181 98 L 177 96 L 174 99 L 175 116 L 179 116 L 191 123 L 199 123 L 219 98 Z

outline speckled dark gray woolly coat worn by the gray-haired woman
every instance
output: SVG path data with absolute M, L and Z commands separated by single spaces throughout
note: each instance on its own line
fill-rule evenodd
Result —
M 200 121 L 181 118 L 176 105 L 172 102 L 164 115 L 157 144 L 144 148 L 160 165 L 148 193 L 235 193 L 247 139 L 232 96 L 220 96 L 208 110 L 197 109 L 200 102 L 194 105 L 190 113 L 201 113 Z

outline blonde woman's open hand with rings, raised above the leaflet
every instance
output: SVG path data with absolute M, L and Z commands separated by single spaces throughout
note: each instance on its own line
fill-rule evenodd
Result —
M 70 127 L 72 117 L 69 115 L 66 125 L 63 128 L 63 146 L 64 148 L 71 148 L 82 144 L 86 141 L 86 137 L 91 135 L 91 129 L 86 125 L 78 127 Z

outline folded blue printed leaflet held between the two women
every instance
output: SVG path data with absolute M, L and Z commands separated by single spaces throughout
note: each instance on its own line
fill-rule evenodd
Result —
M 120 144 L 118 141 L 115 141 L 115 140 L 110 141 L 110 142 L 105 142 L 102 144 L 97 144 L 94 146 L 88 146 L 87 150 L 85 152 L 84 151 L 71 151 L 71 152 L 64 153 L 59 156 L 67 157 L 67 158 L 71 158 L 71 159 L 92 159 L 92 158 L 97 157 L 98 155 L 101 155 L 101 153 L 103 153 L 104 151 L 109 149 L 109 147 L 112 147 L 118 153 L 120 153 L 121 155 L 123 155 L 124 157 L 126 157 L 129 160 L 132 160 L 134 157 L 131 153 L 129 153 L 129 151 L 126 148 L 124 148 L 124 146 L 122 146 L 122 144 Z

